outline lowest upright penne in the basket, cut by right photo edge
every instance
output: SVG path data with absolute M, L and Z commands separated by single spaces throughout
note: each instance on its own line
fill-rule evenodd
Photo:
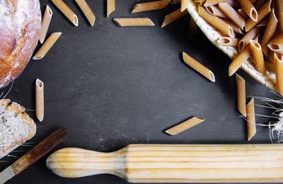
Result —
M 276 90 L 283 95 L 283 57 L 281 54 L 274 53 Z

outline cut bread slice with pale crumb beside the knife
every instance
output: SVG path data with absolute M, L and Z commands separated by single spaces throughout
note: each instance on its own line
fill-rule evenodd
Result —
M 0 100 L 0 159 L 31 139 L 36 125 L 25 108 L 11 100 Z

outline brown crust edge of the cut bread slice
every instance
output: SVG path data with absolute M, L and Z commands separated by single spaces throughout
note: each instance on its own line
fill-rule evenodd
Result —
M 16 140 L 11 144 L 11 146 L 6 146 L 4 149 L 0 150 L 0 159 L 3 156 L 6 156 L 9 152 L 13 151 L 13 149 L 16 149 L 18 146 L 20 146 L 23 142 L 26 142 L 28 139 L 31 139 L 36 132 L 36 125 L 32 118 L 29 117 L 27 113 L 25 113 L 25 108 L 18 103 L 11 103 L 10 99 L 4 99 L 0 100 L 0 106 L 4 107 L 5 110 L 16 112 L 17 116 L 23 117 L 25 120 L 25 123 L 28 124 L 28 127 L 30 129 L 30 133 L 27 134 L 22 139 Z

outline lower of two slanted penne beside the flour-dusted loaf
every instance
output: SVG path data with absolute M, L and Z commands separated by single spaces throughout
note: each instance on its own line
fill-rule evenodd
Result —
M 45 54 L 51 49 L 54 43 L 58 40 L 58 38 L 62 35 L 62 33 L 52 33 L 47 40 L 43 43 L 39 50 L 33 56 L 33 59 L 42 59 L 45 57 Z

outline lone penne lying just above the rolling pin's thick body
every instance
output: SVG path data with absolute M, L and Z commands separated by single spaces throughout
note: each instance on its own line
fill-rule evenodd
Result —
M 195 125 L 199 125 L 202 122 L 204 122 L 204 119 L 202 119 L 201 117 L 192 117 L 185 122 L 181 122 L 180 124 L 171 127 L 165 132 L 171 135 L 180 134 L 180 132 L 184 132 L 185 130 L 190 129 L 191 127 L 195 127 Z

